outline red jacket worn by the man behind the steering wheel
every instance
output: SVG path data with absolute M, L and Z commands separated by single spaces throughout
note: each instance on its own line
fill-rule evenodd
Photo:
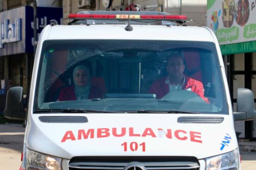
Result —
M 183 89 L 189 89 L 189 91 L 195 92 L 199 95 L 204 101 L 209 103 L 208 99 L 204 97 L 204 86 L 200 81 L 189 78 L 185 76 L 185 83 L 183 85 Z M 149 93 L 156 94 L 157 99 L 163 98 L 164 95 L 169 93 L 169 84 L 166 84 L 165 81 L 168 76 L 158 79 L 154 81 L 153 85 L 149 89 Z M 191 90 L 190 90 L 191 88 Z

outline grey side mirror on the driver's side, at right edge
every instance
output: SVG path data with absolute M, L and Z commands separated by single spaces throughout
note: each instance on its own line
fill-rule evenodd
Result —
M 237 89 L 237 112 L 234 112 L 235 121 L 252 120 L 256 118 L 253 92 L 250 89 Z

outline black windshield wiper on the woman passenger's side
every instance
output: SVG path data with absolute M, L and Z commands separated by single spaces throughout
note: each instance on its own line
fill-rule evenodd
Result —
M 111 113 L 101 110 L 86 110 L 86 109 L 37 109 L 35 113 Z

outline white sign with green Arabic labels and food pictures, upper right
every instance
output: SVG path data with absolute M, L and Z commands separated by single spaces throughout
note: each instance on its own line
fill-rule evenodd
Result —
M 220 45 L 256 40 L 256 0 L 207 0 L 207 26 Z

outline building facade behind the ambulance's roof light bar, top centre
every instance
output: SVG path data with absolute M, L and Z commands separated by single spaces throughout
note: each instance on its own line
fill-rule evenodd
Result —
M 87 3 L 91 2 L 91 3 Z M 163 11 L 186 15 L 193 20 L 190 25 L 206 26 L 207 0 L 130 0 L 130 10 Z M 128 0 L 63 0 L 63 23 L 68 23 L 68 14 L 84 10 L 128 9 Z

